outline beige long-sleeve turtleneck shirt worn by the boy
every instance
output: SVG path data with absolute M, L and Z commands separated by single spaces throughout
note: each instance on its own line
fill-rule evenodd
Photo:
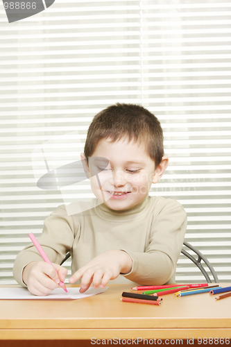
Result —
M 172 199 L 146 196 L 130 210 L 114 211 L 92 200 L 92 208 L 69 216 L 61 205 L 44 221 L 37 237 L 51 262 L 60 264 L 71 253 L 71 273 L 75 273 L 96 255 L 112 249 L 126 251 L 132 258 L 132 270 L 119 275 L 113 283 L 163 285 L 174 282 L 176 263 L 182 249 L 187 215 Z M 40 261 L 30 244 L 17 255 L 13 275 L 25 287 L 22 271 L 31 261 Z

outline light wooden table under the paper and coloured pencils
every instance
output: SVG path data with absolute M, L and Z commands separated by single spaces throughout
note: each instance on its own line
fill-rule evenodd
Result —
M 110 285 L 103 294 L 79 300 L 1 300 L 0 340 L 216 337 L 230 338 L 231 345 L 231 297 L 169 294 L 153 306 L 123 303 L 122 291 L 131 291 L 130 285 Z

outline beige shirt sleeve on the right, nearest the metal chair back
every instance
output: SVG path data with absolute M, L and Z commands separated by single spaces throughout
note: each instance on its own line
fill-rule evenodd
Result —
M 186 228 L 187 214 L 182 205 L 177 203 L 170 209 L 169 205 L 164 206 L 153 219 L 145 252 L 127 252 L 132 258 L 132 269 L 123 276 L 141 285 L 174 282 L 176 263 L 182 250 Z

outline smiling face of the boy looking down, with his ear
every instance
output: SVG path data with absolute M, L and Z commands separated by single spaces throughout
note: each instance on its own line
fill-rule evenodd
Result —
M 151 184 L 158 182 L 167 166 L 167 158 L 164 158 L 164 168 L 160 164 L 155 170 L 144 144 L 127 139 L 116 142 L 102 139 L 89 159 L 92 192 L 99 201 L 118 211 L 142 202 Z

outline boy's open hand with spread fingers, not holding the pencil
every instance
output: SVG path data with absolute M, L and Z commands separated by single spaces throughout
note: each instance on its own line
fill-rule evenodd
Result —
M 94 289 L 104 288 L 108 281 L 114 280 L 120 273 L 129 273 L 131 269 L 132 259 L 128 253 L 119 250 L 106 251 L 78 269 L 69 278 L 69 282 L 74 283 L 82 278 L 80 293 L 84 293 L 91 284 Z

